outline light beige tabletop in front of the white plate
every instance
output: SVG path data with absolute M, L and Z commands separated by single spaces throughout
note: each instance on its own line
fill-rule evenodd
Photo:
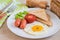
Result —
M 33 40 L 33 39 L 26 39 L 15 35 L 8 29 L 7 23 L 5 21 L 3 26 L 0 28 L 0 40 Z M 51 37 L 35 40 L 60 40 L 60 30 Z

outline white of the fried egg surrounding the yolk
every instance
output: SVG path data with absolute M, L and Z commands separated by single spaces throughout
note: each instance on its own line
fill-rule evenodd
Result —
M 33 27 L 34 25 L 41 25 L 41 26 L 43 26 L 44 29 L 43 29 L 42 31 L 40 31 L 40 32 L 33 32 L 33 31 L 32 31 L 32 27 Z M 26 28 L 24 28 L 24 31 L 25 31 L 26 33 L 28 33 L 28 34 L 38 36 L 38 35 L 44 35 L 44 34 L 48 31 L 48 29 L 49 29 L 49 27 L 48 27 L 47 25 L 35 21 L 35 22 L 33 22 L 33 23 L 27 24 L 27 25 L 26 25 Z

